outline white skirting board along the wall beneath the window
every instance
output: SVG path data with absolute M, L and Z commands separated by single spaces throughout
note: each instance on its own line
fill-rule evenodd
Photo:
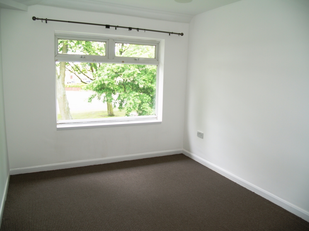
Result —
M 25 168 L 13 168 L 13 169 L 10 169 L 10 172 L 11 172 L 11 175 L 29 173 L 29 172 L 42 172 L 42 171 L 49 171 L 49 170 L 56 170 L 56 169 L 63 169 L 63 168 L 75 168 L 75 167 L 82 167 L 82 166 L 95 165 L 95 164 L 120 162 L 124 160 L 137 160 L 137 159 L 144 159 L 144 158 L 155 157 L 155 156 L 168 156 L 168 155 L 179 154 L 179 153 L 182 153 L 182 149 L 174 149 L 174 150 L 159 151 L 159 152 L 146 152 L 146 153 L 126 155 L 126 156 L 104 157 L 104 158 L 92 159 L 92 160 L 78 160 L 78 161 L 71 161 L 71 162 L 64 162 L 64 163 L 31 166 L 31 167 L 25 167 Z

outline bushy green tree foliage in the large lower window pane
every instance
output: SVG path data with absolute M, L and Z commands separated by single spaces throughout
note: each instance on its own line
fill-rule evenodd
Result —
M 155 113 L 156 66 L 133 64 L 104 64 L 98 77 L 85 89 L 95 91 L 95 97 L 103 102 L 112 101 L 114 107 L 125 115 L 136 111 L 138 115 Z

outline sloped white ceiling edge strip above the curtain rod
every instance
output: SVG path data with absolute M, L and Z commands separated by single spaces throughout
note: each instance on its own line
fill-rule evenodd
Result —
M 1 0 L 0 0 L 1 1 Z M 69 3 L 69 4 L 68 4 Z M 140 18 L 150 18 L 163 21 L 171 22 L 184 22 L 189 23 L 194 15 L 188 14 L 177 14 L 170 13 L 159 10 L 148 10 L 143 8 L 131 7 L 131 6 L 122 6 L 106 2 L 90 2 L 90 1 L 74 1 L 74 0 L 53 0 L 52 4 L 41 2 L 40 5 L 44 6 L 53 6 L 66 9 L 74 9 L 91 12 L 100 12 L 108 14 L 120 14 L 126 16 L 140 17 Z M 43 17 L 43 16 L 42 16 Z

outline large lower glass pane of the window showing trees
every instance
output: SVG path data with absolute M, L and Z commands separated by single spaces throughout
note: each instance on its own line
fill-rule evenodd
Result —
M 56 62 L 57 120 L 155 115 L 156 65 Z

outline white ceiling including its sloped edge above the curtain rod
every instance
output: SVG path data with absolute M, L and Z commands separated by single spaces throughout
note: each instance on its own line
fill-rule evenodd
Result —
M 194 15 L 238 1 L 240 0 L 193 0 L 179 3 L 174 0 L 15 0 L 25 6 L 39 4 L 174 22 L 190 22 Z

